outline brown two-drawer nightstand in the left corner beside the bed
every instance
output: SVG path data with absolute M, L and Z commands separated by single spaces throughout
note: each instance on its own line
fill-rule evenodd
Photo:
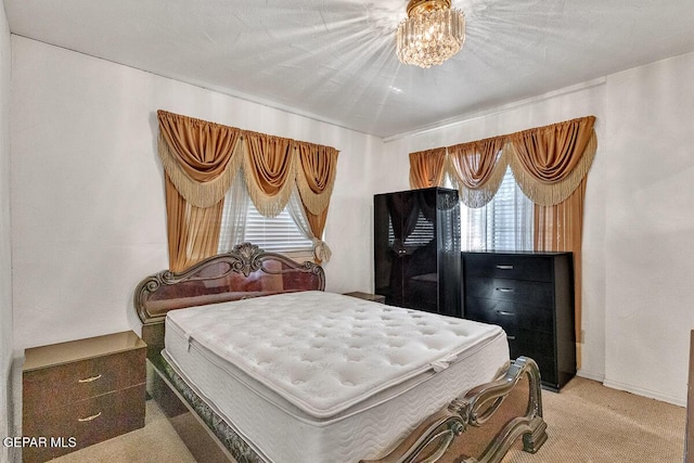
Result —
M 144 426 L 146 344 L 131 331 L 26 349 L 22 435 L 42 462 Z M 44 443 L 44 445 L 41 445 Z

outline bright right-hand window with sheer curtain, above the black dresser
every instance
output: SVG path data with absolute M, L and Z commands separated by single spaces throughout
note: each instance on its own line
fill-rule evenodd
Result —
M 461 204 L 464 250 L 532 250 L 534 204 L 523 194 L 511 168 L 486 206 Z

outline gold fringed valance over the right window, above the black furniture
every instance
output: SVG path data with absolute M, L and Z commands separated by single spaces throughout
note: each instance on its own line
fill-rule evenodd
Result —
M 576 191 L 595 157 L 594 116 L 410 153 L 410 185 L 440 187 L 444 172 L 461 201 L 481 207 L 494 196 L 511 166 L 516 182 L 534 203 L 552 206 Z

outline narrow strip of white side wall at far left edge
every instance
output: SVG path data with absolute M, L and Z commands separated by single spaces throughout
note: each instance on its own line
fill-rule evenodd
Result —
M 0 1 L 0 438 L 11 434 L 12 256 L 10 234 L 10 27 Z M 0 462 L 9 461 L 0 447 Z

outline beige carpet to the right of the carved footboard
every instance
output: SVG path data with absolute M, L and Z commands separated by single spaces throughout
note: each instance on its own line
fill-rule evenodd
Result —
M 548 441 L 512 449 L 503 463 L 682 462 L 686 410 L 580 377 L 542 391 Z

